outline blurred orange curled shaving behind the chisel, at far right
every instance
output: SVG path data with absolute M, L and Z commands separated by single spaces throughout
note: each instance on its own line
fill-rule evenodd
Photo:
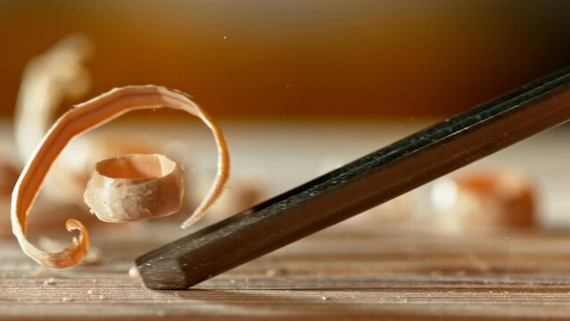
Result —
M 434 182 L 430 194 L 439 231 L 525 228 L 536 225 L 532 177 L 510 168 L 462 169 Z

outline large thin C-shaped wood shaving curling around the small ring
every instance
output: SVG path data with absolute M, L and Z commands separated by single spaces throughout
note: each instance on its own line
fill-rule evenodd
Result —
M 184 221 L 182 228 L 191 226 L 202 218 L 213 202 L 219 198 L 229 175 L 229 154 L 226 140 L 211 116 L 193 103 L 183 93 L 162 86 L 126 86 L 81 103 L 67 111 L 47 132 L 36 151 L 21 172 L 12 193 L 12 233 L 18 239 L 22 251 L 38 263 L 51 268 L 68 268 L 83 259 L 89 248 L 87 229 L 79 221 L 69 219 L 68 231 L 79 232 L 63 251 L 49 253 L 29 243 L 26 221 L 29 209 L 39 193 L 47 172 L 71 138 L 96 128 L 120 115 L 135 110 L 171 108 L 186 111 L 200 119 L 211 129 L 218 147 L 218 171 L 209 193 L 194 213 Z

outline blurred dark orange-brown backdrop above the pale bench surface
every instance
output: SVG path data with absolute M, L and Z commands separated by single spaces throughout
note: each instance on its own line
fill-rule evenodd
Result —
M 153 83 L 224 118 L 440 117 L 570 64 L 569 16 L 542 0 L 2 1 L 0 114 L 29 58 L 82 32 L 89 97 Z

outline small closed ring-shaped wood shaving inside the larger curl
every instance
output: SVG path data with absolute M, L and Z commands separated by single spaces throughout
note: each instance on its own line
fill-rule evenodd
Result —
M 103 222 L 123 223 L 178 212 L 184 187 L 176 162 L 160 154 L 131 154 L 98 162 L 84 199 Z

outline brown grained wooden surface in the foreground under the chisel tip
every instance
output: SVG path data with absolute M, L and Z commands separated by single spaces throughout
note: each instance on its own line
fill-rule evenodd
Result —
M 40 276 L 16 243 L 2 241 L 2 319 L 564 319 L 570 313 L 566 235 L 324 232 L 188 291 L 156 292 L 127 271 L 171 227 L 142 228 L 165 233 L 153 242 L 113 238 L 113 229 L 98 244 L 101 265 Z

